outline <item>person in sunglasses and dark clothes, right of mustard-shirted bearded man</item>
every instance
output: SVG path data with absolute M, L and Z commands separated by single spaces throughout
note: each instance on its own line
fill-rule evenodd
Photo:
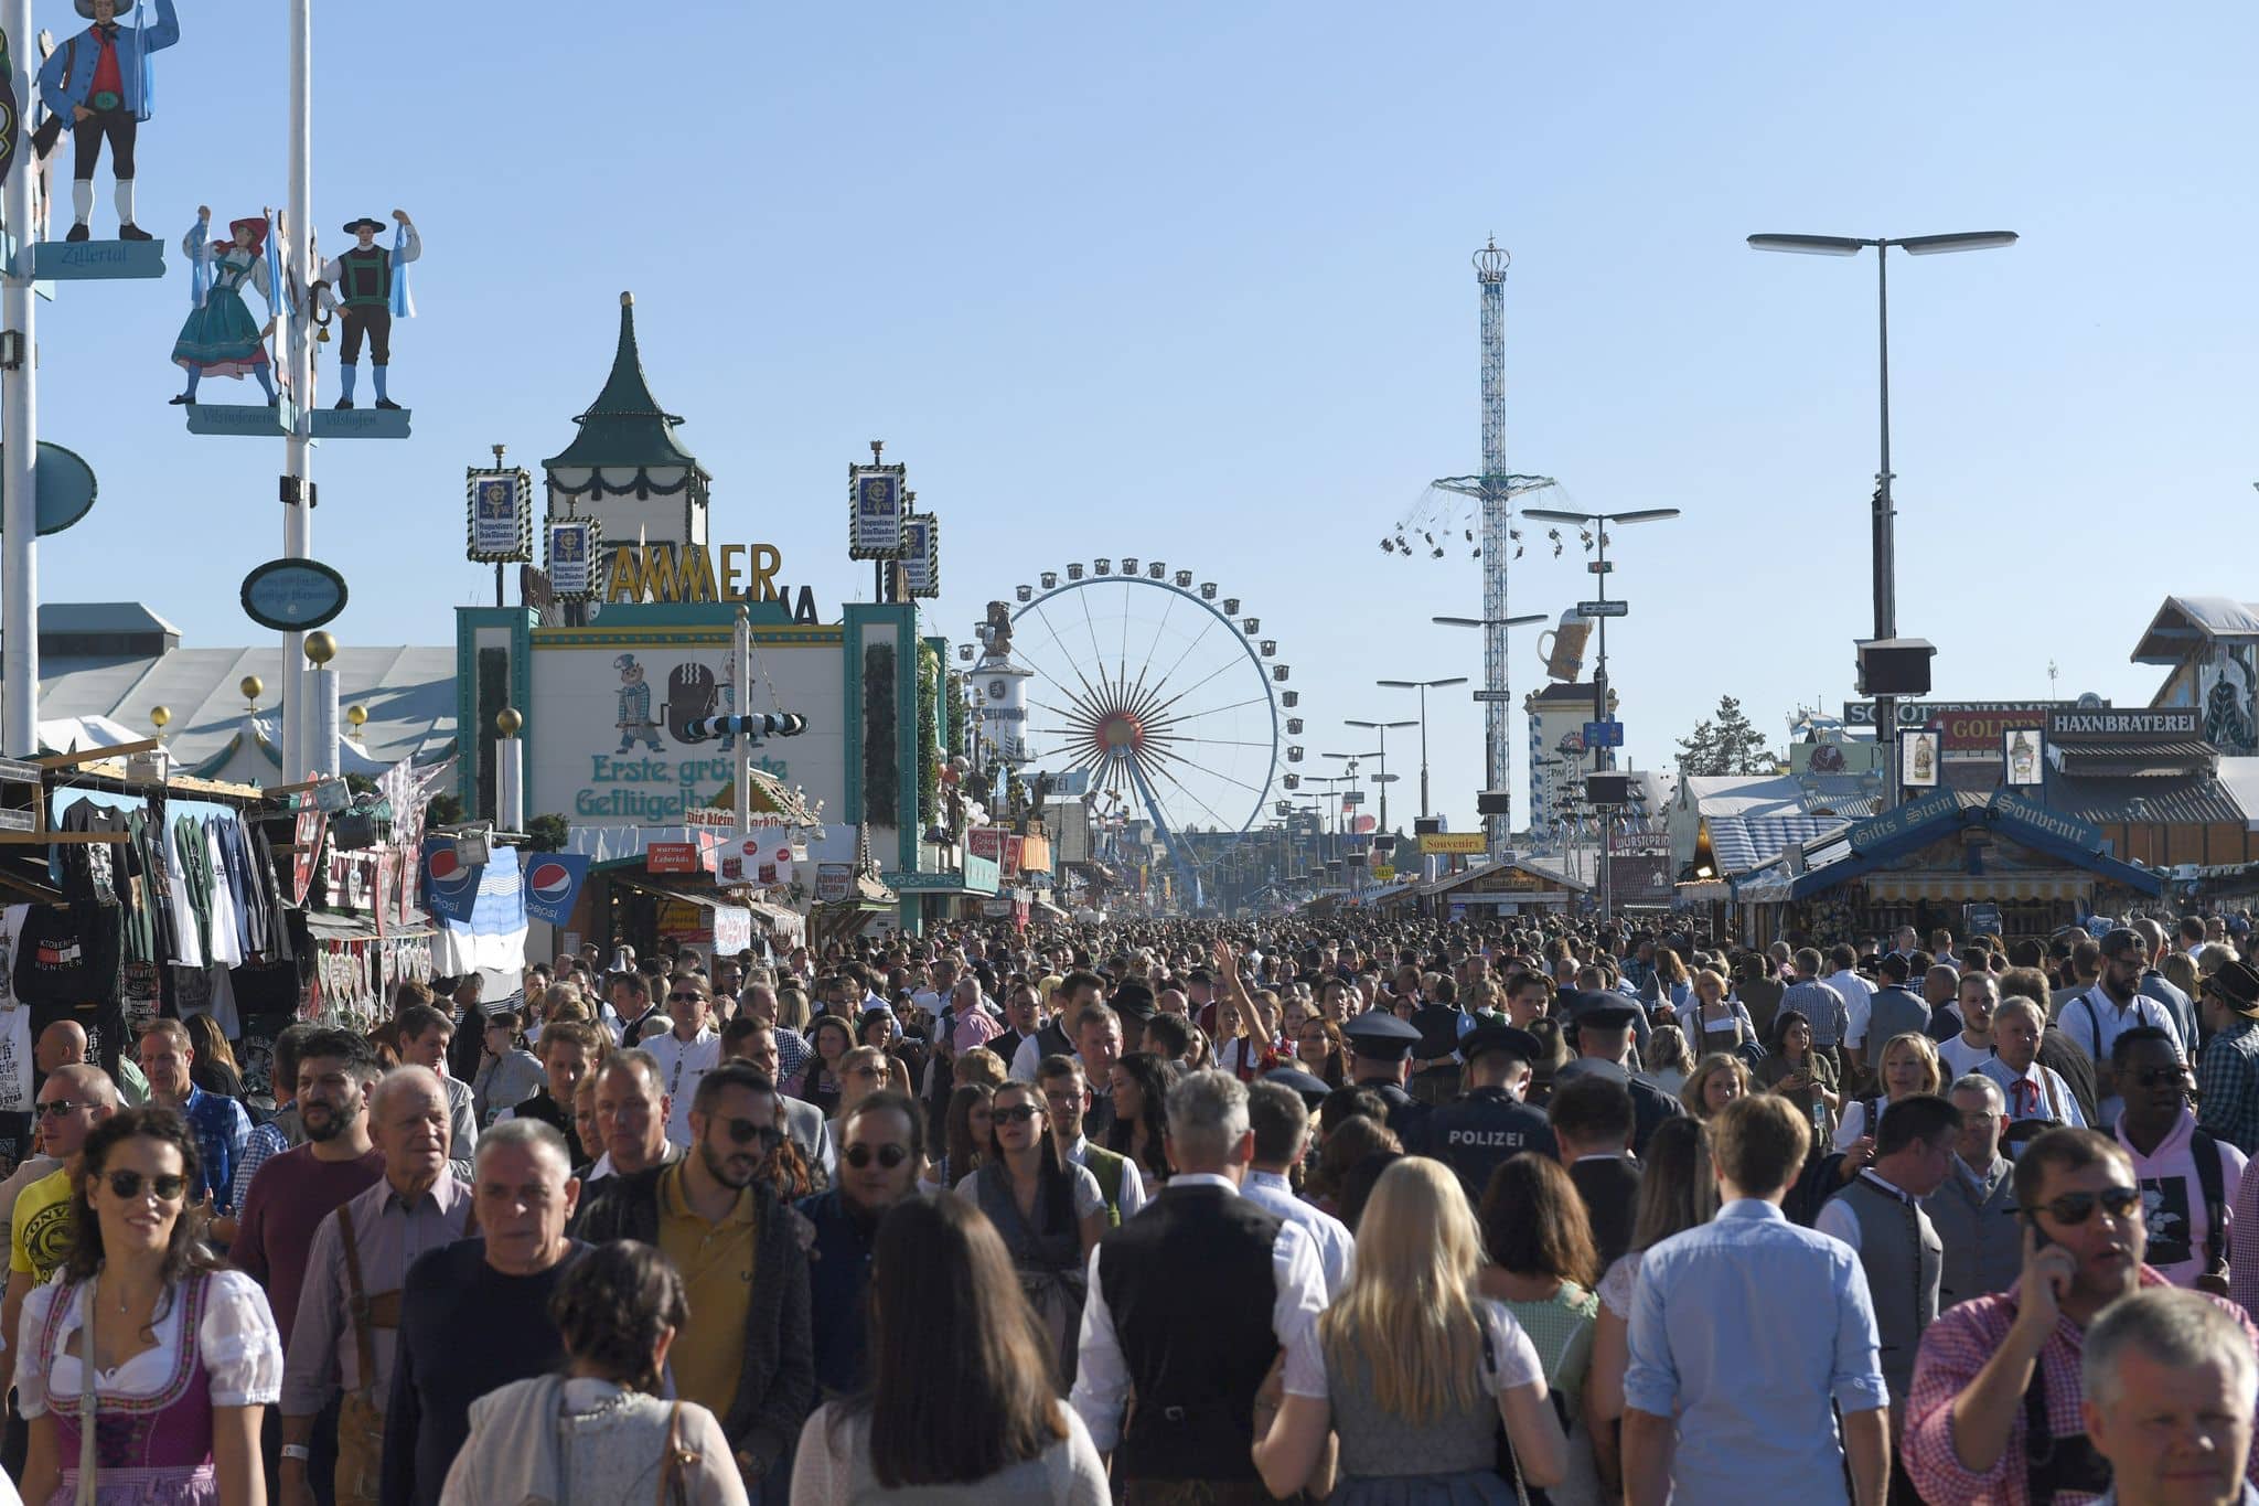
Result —
M 815 1226 L 809 1244 L 809 1323 L 815 1339 L 815 1391 L 849 1395 L 870 1377 L 870 1246 L 888 1208 L 917 1192 L 926 1133 L 917 1104 L 872 1093 L 840 1115 L 840 1170 L 829 1192 L 800 1199 Z

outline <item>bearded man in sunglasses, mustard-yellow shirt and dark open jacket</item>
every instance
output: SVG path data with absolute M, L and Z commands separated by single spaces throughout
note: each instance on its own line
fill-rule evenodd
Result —
M 782 1142 L 777 1084 L 723 1063 L 691 1100 L 691 1152 L 671 1165 L 621 1167 L 599 1183 L 576 1228 L 590 1244 L 657 1246 L 682 1271 L 698 1321 L 666 1355 L 675 1393 L 721 1420 L 748 1492 L 759 1492 L 800 1436 L 815 1395 L 809 1260 L 784 1203 L 757 1179 Z

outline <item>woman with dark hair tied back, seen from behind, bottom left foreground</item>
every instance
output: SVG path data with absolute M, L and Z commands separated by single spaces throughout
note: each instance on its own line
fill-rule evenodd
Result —
M 666 1350 L 689 1321 L 673 1260 L 633 1240 L 599 1244 L 558 1282 L 549 1316 L 565 1339 L 565 1375 L 515 1380 L 470 1404 L 470 1438 L 438 1506 L 745 1504 L 714 1413 L 660 1400 Z

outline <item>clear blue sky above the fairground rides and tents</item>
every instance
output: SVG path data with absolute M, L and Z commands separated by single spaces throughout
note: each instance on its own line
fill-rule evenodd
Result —
M 142 221 L 172 239 L 197 203 L 285 192 L 280 0 L 181 9 L 142 131 Z M 1378 540 L 1477 467 L 1491 233 L 1511 467 L 1685 508 L 1617 544 L 1642 768 L 1719 693 L 1776 738 L 1837 707 L 1868 628 L 1873 262 L 1753 230 L 2024 235 L 1895 264 L 1900 623 L 1940 693 L 2044 695 L 2056 659 L 2065 693 L 2146 702 L 2126 655 L 2157 603 L 2254 594 L 2250 7 L 319 11 L 323 244 L 395 205 L 427 235 L 393 357 L 416 440 L 316 458 L 346 641 L 445 643 L 490 601 L 463 465 L 562 449 L 635 289 L 714 535 L 779 544 L 825 614 L 867 589 L 843 472 L 886 438 L 944 519 L 951 637 L 1039 569 L 1159 555 L 1261 612 L 1312 759 L 1355 747 L 1342 716 L 1410 713 L 1358 686 L 1480 675 L 1473 634 L 1428 625 L 1477 610 L 1477 567 Z M 106 167 L 97 199 L 108 224 Z M 102 476 L 43 594 L 242 643 L 280 445 L 181 431 L 185 312 L 178 257 L 41 305 L 43 434 Z M 1532 546 L 1514 607 L 1559 612 L 1575 564 Z M 1518 641 L 1518 693 L 1534 668 Z M 1439 700 L 1432 729 L 1466 826 L 1477 707 Z

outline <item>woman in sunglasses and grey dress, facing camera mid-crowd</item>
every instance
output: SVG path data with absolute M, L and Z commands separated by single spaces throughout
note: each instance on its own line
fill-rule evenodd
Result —
M 958 1194 L 978 1203 L 1019 1271 L 1021 1292 L 1050 1334 L 1053 1382 L 1066 1395 L 1075 1382 L 1087 1271 L 1098 1235 L 1107 1233 L 1107 1199 L 1098 1179 L 1059 1158 L 1044 1095 L 1008 1082 L 989 1102 L 992 1158 Z

